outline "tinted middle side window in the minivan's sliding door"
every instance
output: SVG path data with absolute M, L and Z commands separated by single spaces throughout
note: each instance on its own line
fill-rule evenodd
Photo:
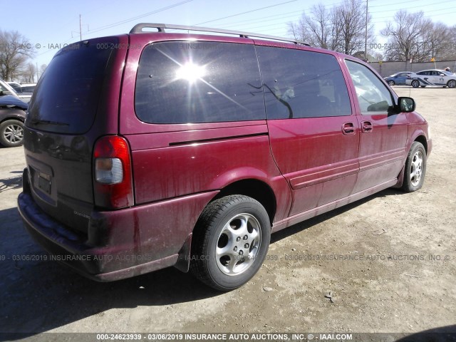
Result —
M 341 67 L 327 53 L 257 46 L 271 119 L 351 115 Z

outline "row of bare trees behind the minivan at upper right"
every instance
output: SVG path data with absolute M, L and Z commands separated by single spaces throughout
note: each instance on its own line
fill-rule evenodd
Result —
M 386 43 L 377 41 L 373 34 L 371 14 L 366 18 L 366 1 L 346 0 L 340 6 L 328 8 L 322 3 L 301 14 L 297 22 L 290 22 L 289 34 L 311 46 L 346 53 L 376 61 L 449 61 L 456 59 L 456 25 L 447 26 L 426 19 L 423 11 L 395 13 L 380 36 Z

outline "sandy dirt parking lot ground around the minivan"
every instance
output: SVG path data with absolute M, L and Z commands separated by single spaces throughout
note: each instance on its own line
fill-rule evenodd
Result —
M 1 148 L 0 332 L 26 335 L 0 339 L 50 341 L 41 335 L 49 332 L 456 331 L 456 89 L 394 89 L 415 98 L 432 127 L 423 189 L 385 190 L 274 234 L 257 276 L 226 294 L 174 268 L 96 283 L 40 261 L 46 254 L 16 209 L 24 152 Z

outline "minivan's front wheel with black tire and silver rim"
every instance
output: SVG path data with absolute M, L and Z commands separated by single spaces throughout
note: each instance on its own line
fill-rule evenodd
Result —
M 405 192 L 414 192 L 420 189 L 425 182 L 426 150 L 421 142 L 415 141 L 410 147 L 405 160 L 404 181 L 402 189 Z

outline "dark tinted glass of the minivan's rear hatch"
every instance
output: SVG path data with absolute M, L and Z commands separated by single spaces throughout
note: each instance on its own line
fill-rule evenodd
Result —
M 109 43 L 117 42 L 110 39 Z M 89 130 L 113 53 L 103 43 L 71 44 L 56 53 L 33 91 L 26 125 L 56 133 Z

